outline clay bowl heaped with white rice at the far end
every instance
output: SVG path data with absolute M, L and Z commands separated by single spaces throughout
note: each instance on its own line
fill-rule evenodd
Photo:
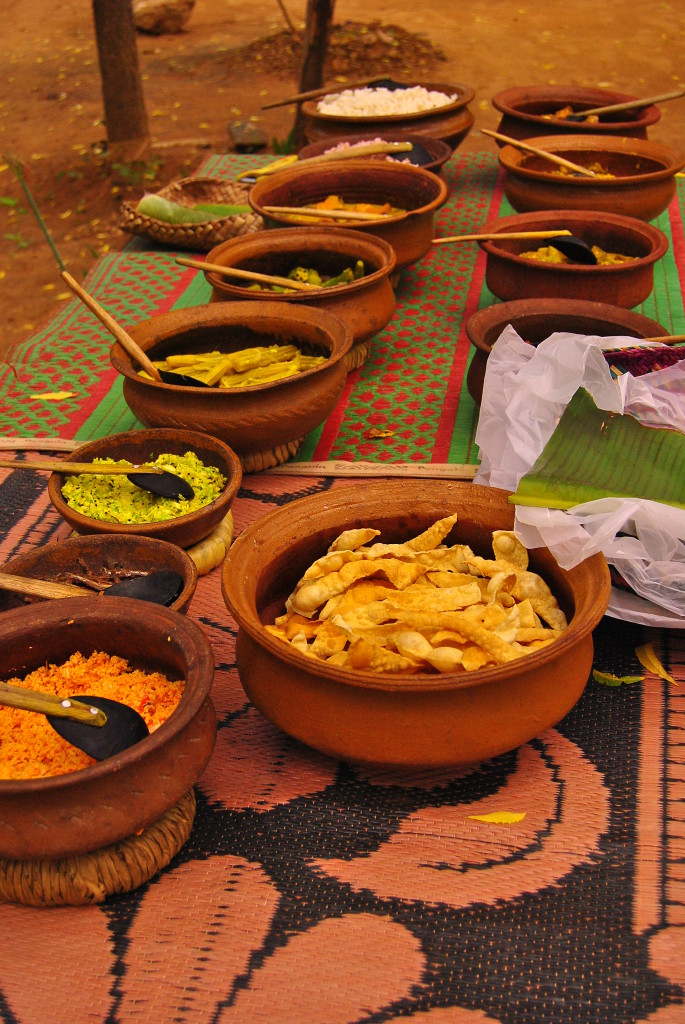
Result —
M 322 114 L 318 110 L 319 99 L 307 99 L 301 106 L 302 125 L 304 133 L 309 142 L 316 142 L 319 139 L 330 139 L 337 135 L 346 133 L 356 134 L 357 132 L 372 132 L 372 137 L 381 135 L 383 131 L 394 130 L 412 132 L 427 138 L 436 138 L 445 142 L 454 153 L 470 132 L 474 117 L 468 109 L 468 104 L 475 96 L 475 89 L 470 85 L 428 82 L 406 82 L 409 86 L 421 85 L 425 89 L 435 92 L 443 92 L 446 95 L 455 96 L 453 102 L 441 108 L 419 111 L 414 114 L 385 116 L 374 115 L 368 118 L 344 117 L 341 115 Z M 346 86 L 340 89 L 331 89 L 329 95 L 343 92 Z

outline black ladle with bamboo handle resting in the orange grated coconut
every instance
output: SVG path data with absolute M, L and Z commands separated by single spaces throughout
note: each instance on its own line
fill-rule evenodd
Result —
M 0 705 L 45 715 L 55 732 L 96 761 L 121 754 L 149 735 L 137 711 L 109 697 L 81 693 L 58 697 L 0 683 Z

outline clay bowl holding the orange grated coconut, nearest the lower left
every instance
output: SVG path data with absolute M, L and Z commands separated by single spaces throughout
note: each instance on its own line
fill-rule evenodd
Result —
M 2 616 L 2 678 L 73 653 L 104 651 L 131 668 L 185 678 L 178 708 L 122 754 L 50 778 L 0 779 L 0 856 L 58 858 L 100 850 L 157 821 L 203 773 L 216 738 L 214 657 L 187 615 L 129 598 L 45 601 Z

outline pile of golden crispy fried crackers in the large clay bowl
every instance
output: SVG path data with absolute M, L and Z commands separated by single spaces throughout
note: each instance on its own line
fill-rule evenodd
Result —
M 402 544 L 345 530 L 304 572 L 266 629 L 330 665 L 387 673 L 470 672 L 552 643 L 566 616 L 510 530 L 494 558 L 443 542 L 458 513 Z

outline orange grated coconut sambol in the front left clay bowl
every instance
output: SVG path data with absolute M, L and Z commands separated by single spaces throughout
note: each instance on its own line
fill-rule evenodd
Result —
M 89 656 L 77 651 L 62 665 L 42 666 L 5 682 L 58 696 L 89 693 L 119 700 L 137 711 L 151 732 L 166 722 L 185 687 L 183 679 L 131 669 L 125 658 L 102 651 Z M 0 779 L 46 778 L 96 763 L 55 732 L 44 715 L 0 708 Z

